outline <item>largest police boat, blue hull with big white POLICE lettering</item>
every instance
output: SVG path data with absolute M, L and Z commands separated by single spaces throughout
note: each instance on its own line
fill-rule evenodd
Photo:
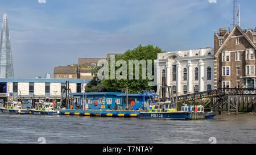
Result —
M 170 102 L 156 102 L 151 103 L 147 112 L 141 112 L 139 118 L 147 119 L 187 119 L 188 111 L 177 111 L 177 104 Z

